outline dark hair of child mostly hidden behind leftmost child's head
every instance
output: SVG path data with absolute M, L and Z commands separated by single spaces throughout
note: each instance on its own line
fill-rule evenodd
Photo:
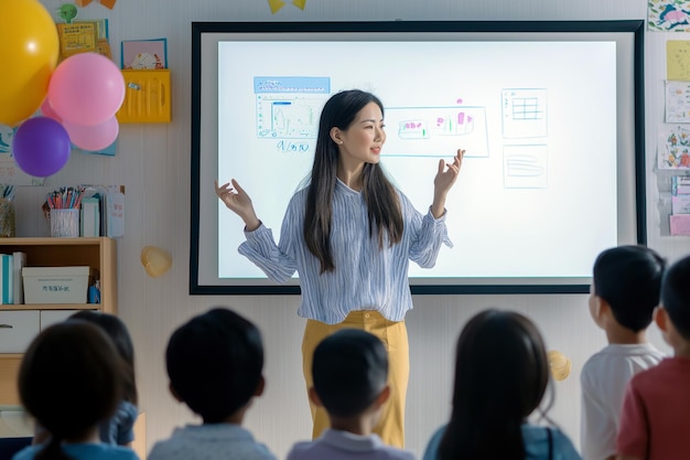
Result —
M 69 319 L 82 320 L 99 327 L 112 341 L 122 361 L 125 361 L 123 398 L 137 405 L 138 392 L 134 377 L 134 345 L 127 325 L 118 317 L 91 310 L 80 310 Z

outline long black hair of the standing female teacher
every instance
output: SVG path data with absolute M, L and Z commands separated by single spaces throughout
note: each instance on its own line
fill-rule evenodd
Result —
M 304 240 L 309 250 L 319 258 L 322 274 L 335 270 L 331 254 L 331 222 L 338 147 L 331 138 L 331 129 L 337 127 L 347 130 L 359 110 L 369 103 L 378 105 L 384 113 L 384 105 L 376 96 L 359 89 L 333 95 L 321 113 L 314 164 L 306 193 Z M 402 211 L 398 194 L 379 164 L 365 163 L 362 174 L 369 235 L 374 236 L 376 229 L 379 247 L 382 247 L 387 234 L 392 246 L 402 238 Z

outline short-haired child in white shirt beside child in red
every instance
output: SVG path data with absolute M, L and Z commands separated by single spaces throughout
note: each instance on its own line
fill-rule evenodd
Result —
M 594 261 L 590 313 L 608 345 L 582 367 L 581 446 L 585 460 L 613 459 L 625 386 L 664 355 L 646 330 L 659 304 L 666 263 L 644 246 L 606 249 Z

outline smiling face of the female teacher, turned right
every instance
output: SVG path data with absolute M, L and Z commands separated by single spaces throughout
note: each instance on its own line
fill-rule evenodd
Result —
M 384 115 L 376 103 L 369 103 L 359 110 L 355 120 L 342 131 L 332 130 L 332 138 L 338 146 L 341 162 L 346 165 L 378 163 L 381 147 L 386 142 Z

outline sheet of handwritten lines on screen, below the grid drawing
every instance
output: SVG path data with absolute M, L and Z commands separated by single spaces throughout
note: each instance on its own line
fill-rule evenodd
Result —
M 503 182 L 506 189 L 546 189 L 548 185 L 546 145 L 504 146 Z

